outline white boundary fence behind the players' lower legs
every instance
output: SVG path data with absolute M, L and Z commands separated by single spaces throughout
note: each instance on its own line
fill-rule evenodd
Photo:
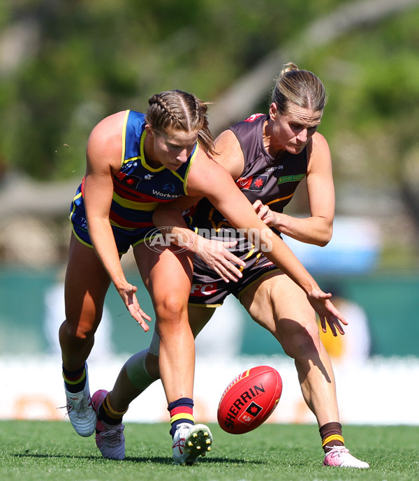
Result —
M 89 363 L 91 393 L 111 390 L 125 357 Z M 284 390 L 270 422 L 312 423 L 314 416 L 302 399 L 293 362 L 278 357 L 199 356 L 196 363 L 195 408 L 197 422 L 216 421 L 221 394 L 237 374 L 260 364 L 281 374 Z M 0 419 L 67 420 L 59 357 L 0 357 L 2 396 Z M 419 425 L 417 358 L 376 358 L 335 366 L 342 424 Z M 169 422 L 166 397 L 156 381 L 131 403 L 126 422 Z

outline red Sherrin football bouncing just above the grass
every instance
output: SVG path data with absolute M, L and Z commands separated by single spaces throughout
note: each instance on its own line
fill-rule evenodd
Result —
M 221 429 L 244 434 L 265 422 L 277 407 L 282 379 L 273 367 L 252 367 L 235 377 L 224 390 L 217 418 Z

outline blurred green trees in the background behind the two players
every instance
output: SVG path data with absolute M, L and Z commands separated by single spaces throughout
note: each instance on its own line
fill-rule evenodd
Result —
M 75 190 L 97 121 L 126 108 L 145 110 L 149 96 L 177 88 L 214 102 L 210 124 L 216 134 L 243 117 L 225 125 L 218 105 L 237 81 L 263 59 L 272 63 L 274 75 L 294 61 L 328 89 L 321 133 L 334 160 L 337 215 L 381 223 L 381 267 L 417 268 L 419 1 L 399 0 L 394 11 L 388 10 L 392 3 L 4 0 L 0 198 L 10 177 L 29 177 L 20 196 L 31 192 L 29 185 L 40 185 L 45 205 L 66 206 L 54 214 L 65 219 L 70 195 L 59 188 L 48 197 L 47 186 L 68 181 Z M 380 8 L 387 13 L 380 15 Z M 339 31 L 331 15 L 343 12 L 348 19 L 348 11 L 360 17 L 353 28 L 342 25 L 341 34 L 316 45 L 304 40 L 307 29 L 325 18 Z M 368 12 L 374 15 L 362 22 Z M 319 34 L 326 38 L 328 32 Z M 274 75 L 257 98 L 242 95 L 244 116 L 267 111 Z M 8 198 L 1 198 L 3 204 Z M 304 212 L 304 202 L 291 208 Z M 11 204 L 1 211 L 0 224 L 10 209 Z M 45 214 L 42 205 L 38 210 Z

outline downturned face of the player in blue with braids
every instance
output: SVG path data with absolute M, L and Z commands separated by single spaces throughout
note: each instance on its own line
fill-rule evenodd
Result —
M 154 149 L 152 161 L 161 163 L 169 170 L 178 169 L 188 160 L 198 140 L 198 131 L 170 129 L 151 135 Z

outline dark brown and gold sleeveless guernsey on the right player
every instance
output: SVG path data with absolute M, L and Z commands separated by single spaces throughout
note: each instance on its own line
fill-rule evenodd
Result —
M 266 114 L 253 114 L 230 127 L 240 142 L 244 155 L 244 170 L 235 182 L 252 204 L 260 199 L 274 212 L 283 212 L 298 184 L 307 174 L 307 149 L 300 154 L 285 151 L 275 158 L 270 156 L 263 145 L 263 125 L 267 119 Z M 238 250 L 251 250 L 251 245 L 241 235 L 237 235 L 207 198 L 198 203 L 193 224 L 204 237 L 208 237 L 210 231 L 212 238 L 240 238 Z

